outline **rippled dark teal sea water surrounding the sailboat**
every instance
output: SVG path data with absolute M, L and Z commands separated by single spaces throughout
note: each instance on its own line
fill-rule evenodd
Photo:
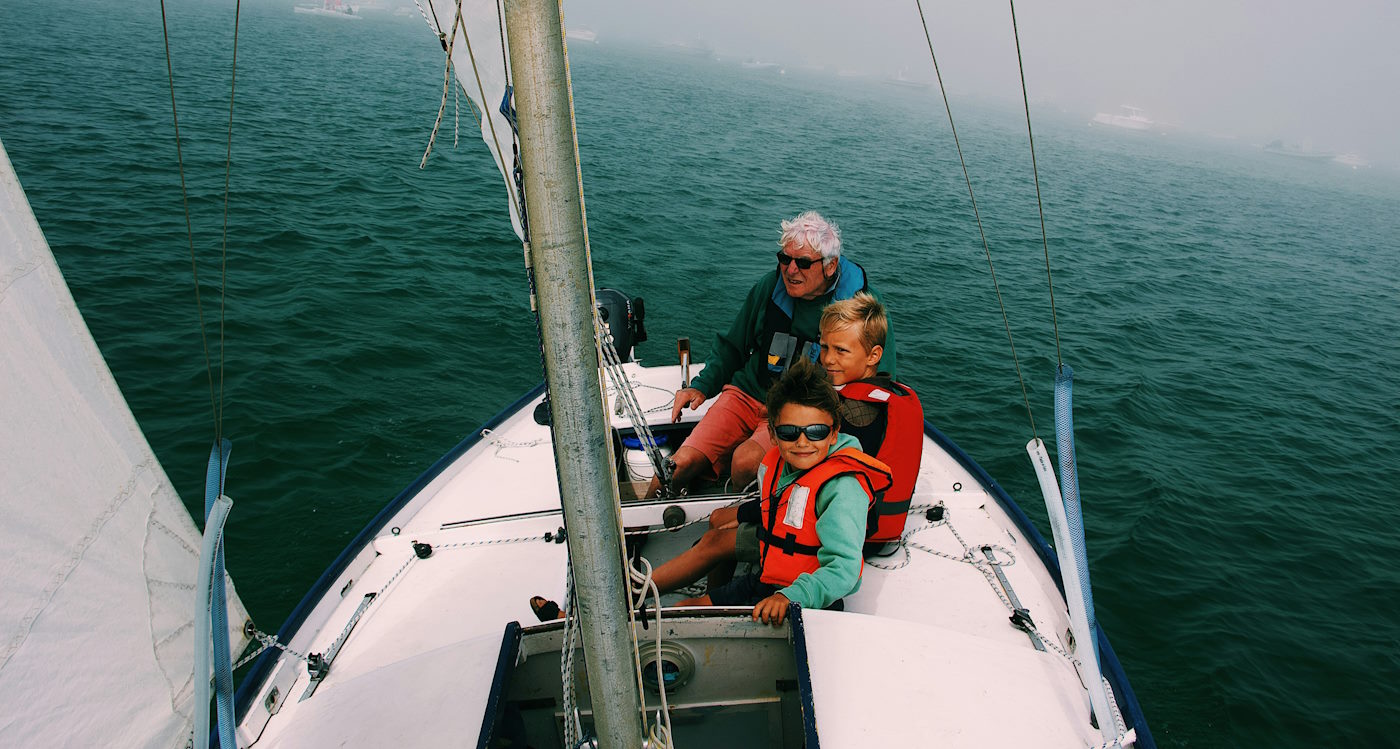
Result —
M 76 18 L 84 20 L 74 24 Z M 417 17 L 171 6 L 228 566 L 276 629 L 403 486 L 540 379 L 519 245 L 465 126 L 419 158 Z M 603 39 L 606 42 L 606 39 Z M 594 270 L 697 356 L 805 209 L 889 301 L 930 419 L 1044 525 L 1030 427 L 931 91 L 574 45 Z M 213 438 L 160 7 L 0 3 L 0 139 L 190 507 Z M 1057 358 L 1025 126 L 953 99 L 1036 426 Z M 1396 746 L 1400 175 L 1037 112 L 1098 613 L 1162 746 Z M 448 122 L 451 122 L 451 111 Z M 4 386 L 0 384 L 0 386 Z

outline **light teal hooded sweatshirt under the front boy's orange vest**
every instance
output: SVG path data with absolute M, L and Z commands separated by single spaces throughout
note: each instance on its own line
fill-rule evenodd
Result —
M 860 447 L 860 440 L 841 434 L 832 445 L 832 452 Z M 802 473 L 784 463 L 777 491 L 787 489 Z M 854 476 L 837 476 L 822 484 L 822 490 L 816 493 L 816 536 L 820 539 L 816 561 L 820 567 L 815 573 L 802 573 L 780 594 L 804 608 L 825 609 L 837 598 L 861 588 L 861 554 L 869 501 L 869 494 Z

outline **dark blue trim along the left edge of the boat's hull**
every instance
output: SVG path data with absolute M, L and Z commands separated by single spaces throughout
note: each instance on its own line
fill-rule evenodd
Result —
M 419 491 L 423 491 L 423 487 L 426 487 L 430 482 L 433 482 L 433 479 L 437 479 L 438 475 L 447 470 L 447 466 L 452 465 L 452 461 L 456 461 L 458 458 L 462 456 L 462 454 L 465 454 L 473 445 L 480 442 L 482 430 L 498 427 L 507 419 L 515 416 L 515 412 L 525 407 L 526 403 L 529 403 L 535 398 L 539 398 L 542 392 L 545 392 L 543 382 L 535 385 L 533 389 L 522 395 L 510 406 L 505 406 L 505 409 L 501 413 L 493 416 L 489 421 L 477 427 L 472 434 L 466 435 L 465 440 L 458 442 L 458 445 L 452 448 L 447 455 L 438 458 L 438 461 L 433 463 L 433 466 L 424 470 L 423 475 L 420 475 L 412 484 L 409 484 L 407 489 L 400 491 L 399 496 L 393 498 L 393 501 L 391 501 L 384 510 L 381 510 L 379 514 L 370 521 L 370 525 L 365 525 L 364 531 L 360 531 L 360 535 L 357 535 L 346 546 L 344 552 L 340 552 L 340 556 L 337 556 L 336 560 L 330 563 L 330 567 L 326 567 L 326 571 L 321 573 L 321 580 L 316 580 L 316 584 L 312 585 L 309 591 L 307 591 L 307 595 L 301 598 L 301 603 L 297 603 L 297 608 L 293 609 L 291 613 L 287 616 L 287 620 L 283 622 L 281 629 L 277 630 L 277 641 L 279 643 L 291 641 L 291 638 L 297 634 L 297 630 L 301 629 L 301 624 L 307 620 L 307 616 L 311 615 L 311 610 L 316 608 L 316 603 L 319 603 L 321 599 L 325 596 L 325 594 L 330 589 L 330 585 L 336 581 L 336 578 L 340 577 L 340 573 L 343 573 L 344 568 L 350 564 L 350 560 L 358 556 L 360 550 L 372 543 L 374 539 L 379 535 L 379 532 L 384 531 L 384 526 L 388 525 L 389 519 L 393 518 L 393 515 L 396 515 L 399 510 L 403 510 L 403 507 L 409 504 L 409 501 L 412 501 L 413 497 L 417 497 Z M 259 655 L 256 661 L 253 661 L 253 665 L 244 676 L 244 680 L 238 685 L 238 693 L 234 697 L 234 714 L 237 715 L 235 722 L 242 722 L 244 717 L 248 715 L 248 708 L 252 706 L 252 699 L 262 689 L 263 682 L 267 679 L 267 676 L 272 675 L 272 666 L 273 664 L 277 662 L 279 654 L 280 651 L 277 651 L 276 648 L 267 648 L 266 651 L 263 651 L 263 654 Z

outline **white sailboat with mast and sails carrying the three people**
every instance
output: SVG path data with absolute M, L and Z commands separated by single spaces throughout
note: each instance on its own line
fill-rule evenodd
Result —
M 463 90 L 486 102 L 483 139 L 512 223 L 529 238 L 547 385 L 524 393 L 395 497 L 276 636 L 244 626 L 237 592 L 220 578 L 232 650 L 251 634 L 266 645 L 237 697 L 237 745 L 475 736 L 477 746 L 567 748 L 592 738 L 603 746 L 643 738 L 652 746 L 1152 746 L 1107 637 L 1098 629 L 1072 634 L 1081 630 L 1074 587 L 1061 580 L 1050 546 L 931 424 L 903 543 L 871 561 L 844 612 L 794 610 L 783 627 L 769 627 L 750 622 L 748 608 L 630 605 L 622 539 L 644 538 L 641 553 L 664 560 L 699 536 L 710 511 L 741 494 L 648 498 L 638 491 L 645 469 L 627 468 L 664 470 L 652 455 L 629 461 L 627 452 L 647 451 L 658 434 L 683 435 L 703 410 L 679 424 L 651 414 L 669 405 L 692 365 L 633 361 L 640 305 L 592 287 L 557 6 L 505 8 L 508 55 L 521 73 L 512 97 L 504 70 L 476 64 L 501 59 L 494 4 L 463 3 L 463 14 L 442 6 L 435 22 Z M 207 738 L 193 717 L 195 686 L 207 671 L 193 658 L 162 657 L 164 648 L 207 648 L 189 631 L 190 606 L 172 605 L 193 598 L 193 522 L 148 447 L 140 449 L 144 440 L 66 295 L 13 169 L 7 160 L 0 167 L 8 228 L 0 246 L 0 371 L 24 384 L 0 400 L 6 455 L 43 456 L 18 476 L 25 497 L 97 498 L 69 515 L 73 528 L 62 528 L 67 535 L 49 550 L 52 561 L 36 566 L 35 603 L 25 599 L 7 615 L 15 622 L 7 623 L 10 650 L 0 662 L 0 725 L 7 739 L 39 745 L 112 743 L 113 729 L 125 731 L 118 743 L 127 745 L 183 745 L 192 729 Z M 606 315 L 595 312 L 599 305 Z M 77 407 L 74 393 L 83 396 Z M 25 440 L 35 447 L 24 451 Z M 55 479 L 41 484 L 42 476 Z M 71 476 L 104 486 L 71 493 L 62 486 Z M 29 494 L 31 486 L 39 490 Z M 25 507 L 8 497 L 7 512 Z M 108 540 L 141 553 L 108 554 Z M 39 553 L 42 543 L 35 546 Z M 134 557 L 133 570 L 109 567 L 108 557 L 123 554 Z M 119 585 L 108 575 L 140 582 Z M 94 619 L 104 599 L 90 596 L 104 588 L 127 610 L 130 589 L 144 589 L 137 616 Z M 532 620 L 526 592 L 571 601 L 574 616 L 521 624 Z M 140 655 L 119 665 L 133 689 L 91 679 L 90 664 L 70 658 L 59 664 L 69 669 L 59 672 L 62 682 L 46 672 L 43 683 L 74 689 L 74 715 L 111 707 L 94 721 L 20 721 L 11 711 L 25 679 L 57 668 L 62 648 L 74 644 L 64 638 L 74 622 L 101 630 L 94 637 L 102 641 L 84 652 Z M 105 640 L 123 631 L 134 644 Z M 134 689 L 137 682 L 150 689 Z M 151 721 L 130 720 L 147 711 Z M 11 734 L 17 721 L 24 734 Z

